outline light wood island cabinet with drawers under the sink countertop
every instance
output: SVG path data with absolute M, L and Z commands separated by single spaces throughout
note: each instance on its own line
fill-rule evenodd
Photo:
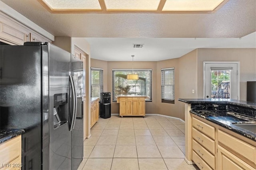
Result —
M 256 169 L 256 142 L 192 116 L 191 155 L 200 170 Z

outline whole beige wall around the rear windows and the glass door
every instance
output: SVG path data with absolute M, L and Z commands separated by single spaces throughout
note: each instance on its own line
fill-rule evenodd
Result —
M 246 82 L 256 81 L 256 49 L 195 49 L 177 58 L 157 62 L 134 62 L 135 69 L 152 69 L 152 102 L 146 114 L 158 113 L 184 120 L 184 103 L 178 98 L 202 98 L 203 61 L 240 61 L 240 98 L 246 100 Z M 131 69 L 132 62 L 91 59 L 91 66 L 104 68 L 104 90 L 112 92 L 112 69 Z M 161 102 L 161 68 L 175 68 L 175 104 Z M 192 93 L 195 90 L 195 93 Z M 119 113 L 112 102 L 111 113 Z

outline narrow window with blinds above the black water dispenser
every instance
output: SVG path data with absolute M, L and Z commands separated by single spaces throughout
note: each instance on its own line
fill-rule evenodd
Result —
M 91 68 L 91 97 L 100 97 L 103 92 L 103 69 Z

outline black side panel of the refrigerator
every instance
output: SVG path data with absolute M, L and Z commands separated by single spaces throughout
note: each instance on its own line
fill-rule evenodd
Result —
M 22 169 L 41 169 L 41 46 L 0 45 L 0 129 L 25 129 Z

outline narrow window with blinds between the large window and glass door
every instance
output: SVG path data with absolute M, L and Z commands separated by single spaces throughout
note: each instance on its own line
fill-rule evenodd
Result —
M 163 77 L 163 73 L 166 71 L 172 71 L 170 76 L 170 79 L 173 78 L 173 84 L 165 84 L 166 83 L 166 77 Z M 171 80 L 170 80 L 171 81 Z M 164 86 L 170 86 L 172 87 L 172 99 L 166 99 L 163 94 L 165 94 L 165 89 Z M 174 104 L 175 103 L 175 69 L 174 67 L 169 67 L 169 68 L 161 68 L 161 102 L 162 103 L 169 103 L 169 104 Z

